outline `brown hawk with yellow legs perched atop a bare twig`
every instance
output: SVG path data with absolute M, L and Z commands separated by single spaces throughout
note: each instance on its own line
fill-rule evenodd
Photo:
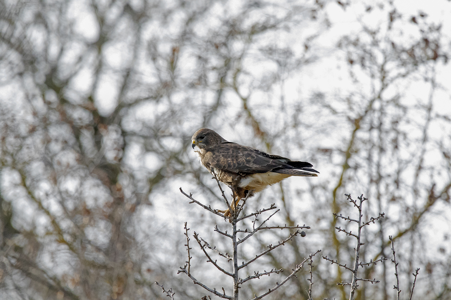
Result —
M 306 161 L 291 161 L 289 158 L 269 154 L 258 149 L 228 142 L 215 131 L 201 128 L 192 137 L 193 149 L 199 148 L 202 166 L 227 184 L 233 192 L 234 210 L 240 199 L 252 197 L 255 193 L 290 176 L 318 176 L 317 170 Z M 229 210 L 225 212 L 230 215 Z

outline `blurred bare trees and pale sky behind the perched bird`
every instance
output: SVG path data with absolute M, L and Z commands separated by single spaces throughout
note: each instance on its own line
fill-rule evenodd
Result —
M 185 221 L 227 250 L 212 230 L 227 223 L 178 190 L 225 209 L 190 147 L 202 127 L 321 172 L 248 201 L 312 229 L 246 271 L 317 249 L 350 264 L 332 213 L 352 216 L 343 194 L 363 193 L 364 218 L 386 218 L 365 230 L 361 259 L 390 257 L 393 235 L 401 297 L 420 267 L 414 298 L 451 299 L 451 4 L 430 2 L 0 1 L 0 299 L 165 298 L 155 281 L 205 295 L 176 275 Z M 191 254 L 196 278 L 230 291 Z M 396 299 L 389 261 L 364 271 L 381 282 L 356 299 Z M 314 264 L 313 298 L 347 298 L 336 282 L 351 274 Z M 267 299 L 307 299 L 302 272 Z

